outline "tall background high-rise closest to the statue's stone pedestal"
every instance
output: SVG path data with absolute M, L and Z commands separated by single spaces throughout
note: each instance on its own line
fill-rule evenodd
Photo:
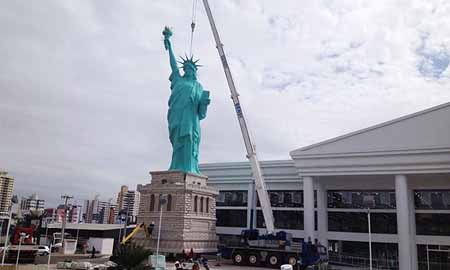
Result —
M 128 213 L 128 222 L 135 223 L 139 212 L 141 193 L 137 190 L 129 190 L 128 186 L 121 186 L 117 195 L 117 207 L 122 213 Z

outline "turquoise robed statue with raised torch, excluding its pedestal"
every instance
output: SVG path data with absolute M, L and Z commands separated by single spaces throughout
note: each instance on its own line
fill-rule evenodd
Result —
M 172 51 L 170 36 L 172 31 L 165 27 L 163 31 L 164 47 L 169 51 L 170 98 L 167 120 L 169 137 L 172 144 L 172 162 L 169 170 L 180 170 L 200 174 L 198 169 L 198 150 L 200 144 L 200 120 L 206 117 L 210 103 L 209 92 L 203 90 L 197 81 L 198 60 L 193 57 L 181 58 L 183 76 L 177 66 Z

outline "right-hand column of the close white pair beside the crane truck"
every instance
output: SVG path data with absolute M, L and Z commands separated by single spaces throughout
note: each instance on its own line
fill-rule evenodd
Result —
M 328 249 L 328 198 L 325 185 L 317 182 L 317 238 Z

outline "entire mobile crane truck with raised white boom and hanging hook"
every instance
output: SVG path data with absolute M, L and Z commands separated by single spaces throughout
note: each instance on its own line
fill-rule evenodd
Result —
M 239 245 L 228 247 L 227 250 L 229 251 L 229 254 L 235 264 L 259 265 L 264 263 L 271 267 L 278 268 L 283 263 L 289 263 L 291 265 L 301 265 L 302 267 L 306 267 L 308 265 L 320 265 L 326 267 L 328 262 L 326 247 L 313 247 L 312 244 L 304 244 L 302 247 L 299 243 L 294 243 L 292 241 L 291 234 L 283 231 L 275 233 L 272 206 L 267 193 L 264 177 L 261 172 L 255 146 L 252 143 L 247 123 L 245 121 L 244 112 L 239 101 L 239 94 L 237 93 L 230 67 L 228 66 L 223 44 L 220 41 L 219 33 L 209 7 L 208 0 L 203 0 L 203 5 L 208 16 L 209 24 L 216 42 L 216 48 L 219 52 L 228 87 L 231 92 L 231 99 L 233 100 L 239 126 L 241 128 L 242 137 L 244 139 L 244 144 L 247 151 L 247 158 L 249 159 L 254 177 L 255 190 L 258 194 L 267 229 L 266 235 L 259 235 L 259 231 L 253 228 L 243 230 L 241 232 Z M 195 6 L 196 0 L 194 0 L 194 7 Z M 195 14 L 194 11 L 193 14 Z M 195 28 L 194 17 L 191 28 L 193 35 Z

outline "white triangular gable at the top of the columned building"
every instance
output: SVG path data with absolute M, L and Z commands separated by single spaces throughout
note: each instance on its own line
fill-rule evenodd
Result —
M 450 148 L 450 102 L 290 152 L 310 154 Z

